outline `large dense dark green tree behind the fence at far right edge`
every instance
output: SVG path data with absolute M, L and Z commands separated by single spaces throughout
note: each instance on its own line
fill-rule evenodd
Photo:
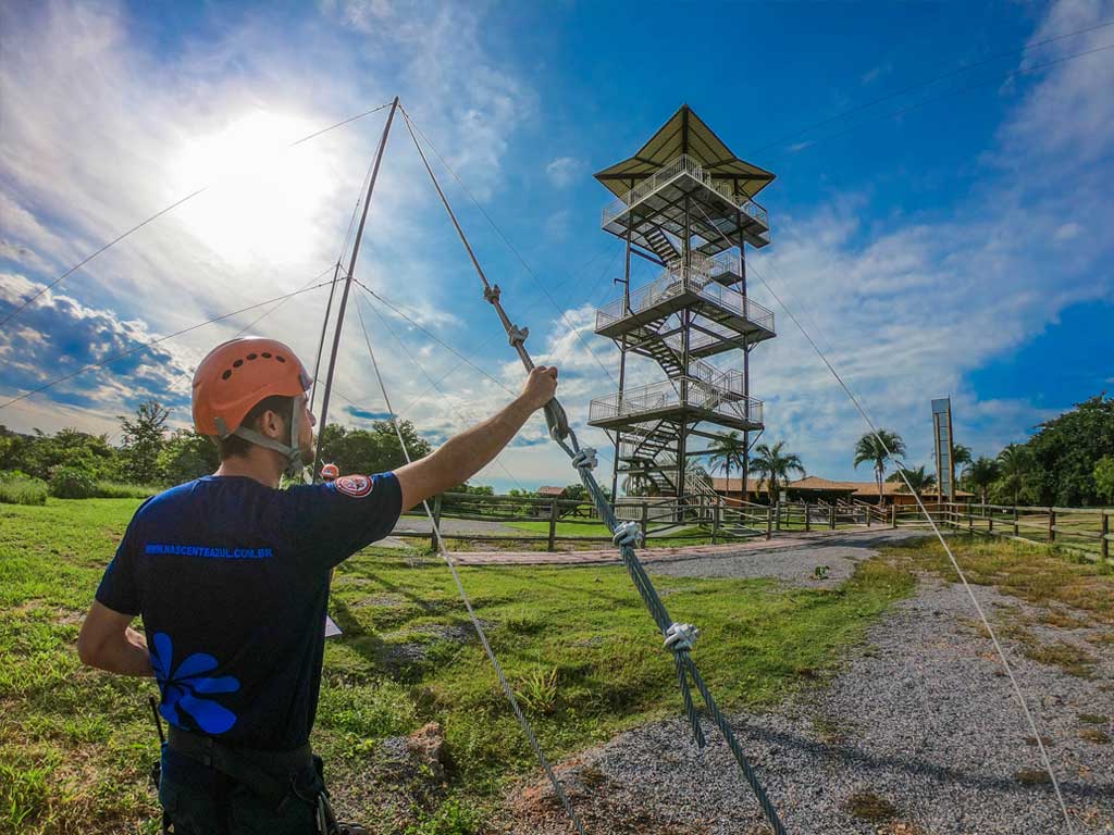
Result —
M 1027 483 L 1039 504 L 1096 504 L 1095 464 L 1114 450 L 1114 397 L 1100 394 L 1040 424 L 1025 444 L 1033 456 Z

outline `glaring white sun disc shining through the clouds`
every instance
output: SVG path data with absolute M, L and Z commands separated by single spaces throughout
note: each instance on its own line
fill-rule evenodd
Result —
M 183 207 L 180 220 L 234 266 L 305 261 L 333 166 L 320 146 L 286 146 L 314 129 L 306 119 L 256 110 L 190 143 L 175 173 L 186 189 L 212 185 Z

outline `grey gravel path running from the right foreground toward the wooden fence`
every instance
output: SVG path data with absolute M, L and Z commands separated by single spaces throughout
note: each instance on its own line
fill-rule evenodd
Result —
M 877 536 L 877 534 L 876 534 Z M 829 542 L 831 542 L 829 540 Z M 829 543 L 824 543 L 829 544 Z M 819 546 L 819 543 L 818 543 Z M 840 550 L 837 554 L 832 551 Z M 861 544 L 810 549 L 836 573 L 861 559 Z M 791 581 L 807 556 L 779 551 L 761 574 L 756 554 L 704 566 L 709 576 L 770 576 Z M 696 573 L 703 563 L 672 568 Z M 742 573 L 729 572 L 734 564 Z M 782 569 L 794 566 L 793 570 Z M 662 571 L 655 566 L 654 571 Z M 1033 625 L 1047 610 L 985 587 L 976 596 L 991 618 L 1027 623 L 1029 651 L 1075 647 L 1093 659 L 1073 676 L 1030 660 L 1018 640 L 1006 651 L 1049 744 L 1078 835 L 1114 833 L 1114 645 L 1097 628 Z M 1059 622 L 1073 613 L 1057 607 Z M 1066 617 L 1065 617 L 1066 616 Z M 961 587 L 922 578 L 868 632 L 830 685 L 736 729 L 786 829 L 794 835 L 1052 835 L 1066 833 L 1042 775 L 1039 755 L 1008 679 Z M 698 660 L 698 650 L 697 650 Z M 1077 670 L 1078 671 L 1078 670 Z M 589 832 L 644 835 L 759 835 L 758 806 L 714 730 L 700 755 L 678 720 L 616 737 L 563 766 Z M 545 787 L 510 802 L 507 832 L 567 833 Z

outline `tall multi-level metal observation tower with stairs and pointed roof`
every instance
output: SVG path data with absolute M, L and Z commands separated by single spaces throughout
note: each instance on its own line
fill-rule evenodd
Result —
M 627 495 L 675 498 L 678 511 L 720 503 L 690 459 L 731 430 L 749 450 L 763 429 L 750 356 L 773 338 L 774 321 L 746 295 L 745 247 L 770 244 L 753 198 L 774 175 L 736 157 L 685 105 L 633 157 L 595 176 L 617 197 L 604 208 L 604 232 L 626 246 L 623 296 L 596 311 L 595 326 L 619 350 L 619 390 L 593 400 L 588 415 L 615 445 L 613 495 L 623 477 Z M 632 256 L 659 271 L 634 289 Z M 627 384 L 635 363 L 653 382 Z

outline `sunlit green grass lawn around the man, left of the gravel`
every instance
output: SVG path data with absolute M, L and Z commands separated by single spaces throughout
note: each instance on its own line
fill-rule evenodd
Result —
M 147 782 L 154 684 L 82 668 L 75 651 L 81 616 L 138 503 L 0 505 L 0 833 L 157 831 Z M 680 714 L 670 656 L 622 568 L 461 573 L 551 758 Z M 771 705 L 815 681 L 913 586 L 907 568 L 880 559 L 827 591 L 656 582 L 673 618 L 703 629 L 694 658 L 729 707 Z M 379 740 L 434 719 L 451 757 L 444 808 L 473 809 L 465 819 L 482 817 L 507 779 L 535 772 L 478 642 L 444 637 L 467 619 L 437 558 L 412 567 L 397 550 L 358 554 L 336 572 L 333 612 L 345 636 L 326 646 L 313 743 L 338 790 L 362 785 Z M 410 829 L 382 821 L 374 797 L 359 808 L 380 833 L 472 832 L 461 815 L 437 818 L 436 808 L 424 809 L 434 817 L 423 824 L 413 822 L 417 809 Z M 457 823 L 436 823 L 450 818 Z

